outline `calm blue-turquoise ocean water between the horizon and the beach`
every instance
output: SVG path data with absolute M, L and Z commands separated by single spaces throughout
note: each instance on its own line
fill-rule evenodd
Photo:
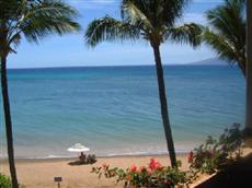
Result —
M 176 152 L 232 122 L 244 125 L 245 81 L 237 67 L 164 67 Z M 16 157 L 167 153 L 156 69 L 139 67 L 9 70 Z M 3 117 L 1 110 L 1 117 Z M 1 118 L 1 134 L 3 120 Z M 5 156 L 1 137 L 1 156 Z

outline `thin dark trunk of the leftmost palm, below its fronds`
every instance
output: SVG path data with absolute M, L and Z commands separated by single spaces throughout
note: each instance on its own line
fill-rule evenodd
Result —
M 10 103 L 8 94 L 8 80 L 7 80 L 7 57 L 1 57 L 1 86 L 2 86 L 2 102 L 5 119 L 7 129 L 7 148 L 8 148 L 8 158 L 11 173 L 12 187 L 19 188 L 16 173 L 15 173 L 15 161 L 14 161 L 14 149 L 13 149 L 13 138 L 12 138 L 12 124 L 11 124 L 11 113 Z

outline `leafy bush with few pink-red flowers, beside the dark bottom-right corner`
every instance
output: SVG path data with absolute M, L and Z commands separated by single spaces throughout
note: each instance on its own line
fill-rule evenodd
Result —
M 190 152 L 187 160 L 191 169 L 213 174 L 239 157 L 243 143 L 242 131 L 239 128 L 239 124 L 233 124 L 231 129 L 225 130 L 219 140 L 208 137 L 205 144 Z

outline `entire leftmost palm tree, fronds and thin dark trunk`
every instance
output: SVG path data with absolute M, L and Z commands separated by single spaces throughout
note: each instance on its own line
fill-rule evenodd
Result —
M 7 58 L 15 52 L 21 38 L 38 43 L 45 36 L 79 30 L 73 19 L 77 11 L 60 0 L 1 0 L 0 1 L 0 56 L 1 87 L 7 130 L 7 144 L 10 173 L 13 188 L 18 188 L 18 177 L 14 164 L 11 110 L 8 94 Z

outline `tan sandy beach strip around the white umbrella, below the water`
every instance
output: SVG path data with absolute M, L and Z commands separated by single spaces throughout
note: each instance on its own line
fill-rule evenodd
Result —
M 55 158 L 55 160 L 18 160 L 16 169 L 19 181 L 26 188 L 57 188 L 54 177 L 62 177 L 61 188 L 122 188 L 115 179 L 101 178 L 91 174 L 93 166 L 101 166 L 106 163 L 111 166 L 127 168 L 136 164 L 137 166 L 147 165 L 150 157 L 157 158 L 162 165 L 170 164 L 165 155 L 158 156 L 118 156 L 118 157 L 99 157 L 93 165 L 71 166 L 68 163 L 77 158 Z M 179 155 L 182 161 L 182 168 L 187 169 L 186 155 Z M 7 162 L 1 163 L 1 172 L 9 174 Z

